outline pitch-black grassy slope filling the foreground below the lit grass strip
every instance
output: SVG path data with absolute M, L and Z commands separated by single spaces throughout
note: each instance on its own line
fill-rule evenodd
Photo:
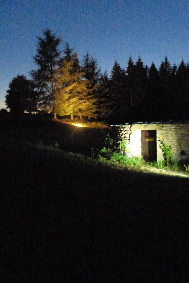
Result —
M 40 149 L 6 125 L 0 282 L 188 282 L 188 179 Z

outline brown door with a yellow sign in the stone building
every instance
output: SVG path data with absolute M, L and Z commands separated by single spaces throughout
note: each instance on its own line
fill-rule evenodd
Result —
M 141 130 L 141 154 L 145 161 L 157 160 L 156 130 Z

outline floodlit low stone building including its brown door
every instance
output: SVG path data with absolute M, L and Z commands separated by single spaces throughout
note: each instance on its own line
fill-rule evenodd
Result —
M 124 139 L 129 157 L 139 156 L 147 161 L 160 160 L 160 141 L 172 148 L 172 157 L 189 160 L 189 123 L 133 123 L 114 125 L 119 141 Z

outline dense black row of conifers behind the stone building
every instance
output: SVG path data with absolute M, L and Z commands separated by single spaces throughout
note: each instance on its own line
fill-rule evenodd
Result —
M 177 67 L 165 57 L 159 69 L 136 64 L 129 58 L 125 69 L 115 61 L 108 78 L 99 78 L 99 117 L 111 123 L 189 119 L 189 64 Z

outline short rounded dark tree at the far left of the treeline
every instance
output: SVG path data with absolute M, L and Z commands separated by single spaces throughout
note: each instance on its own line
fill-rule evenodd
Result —
M 24 110 L 36 110 L 37 92 L 32 80 L 27 80 L 24 75 L 17 75 L 10 83 L 5 96 L 5 103 L 11 112 L 20 113 Z

